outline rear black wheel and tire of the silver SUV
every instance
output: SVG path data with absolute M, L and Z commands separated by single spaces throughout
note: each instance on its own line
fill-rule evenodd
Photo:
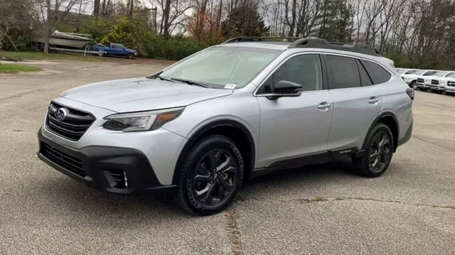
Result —
M 353 158 L 355 170 L 360 175 L 370 178 L 380 176 L 387 170 L 392 160 L 394 142 L 389 127 L 382 123 L 377 124 L 365 139 L 363 156 Z

